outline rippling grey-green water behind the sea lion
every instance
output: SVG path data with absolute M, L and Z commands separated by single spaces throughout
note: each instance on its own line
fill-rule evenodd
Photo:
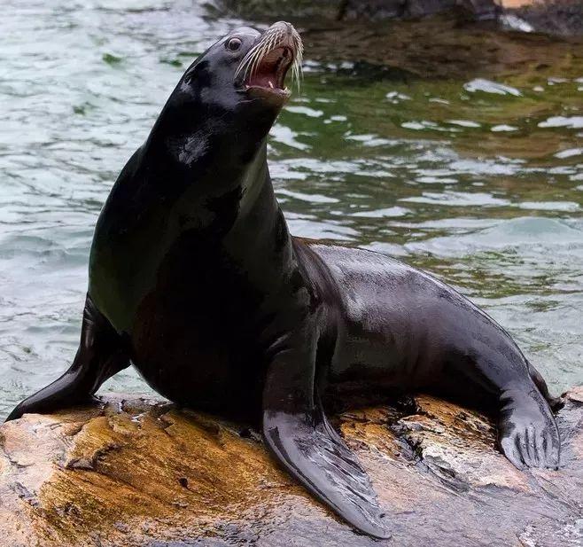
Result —
M 4 0 L 3 13 L 0 418 L 71 363 L 100 207 L 183 69 L 239 24 L 156 0 Z M 496 82 L 376 80 L 308 61 L 269 153 L 294 234 L 392 254 L 455 285 L 556 392 L 583 383 L 574 59 Z M 103 390 L 147 388 L 128 370 Z

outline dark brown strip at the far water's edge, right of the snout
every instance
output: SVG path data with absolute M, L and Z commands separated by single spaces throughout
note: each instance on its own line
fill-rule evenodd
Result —
M 342 66 L 354 64 L 343 72 L 358 82 L 509 76 L 529 82 L 556 76 L 557 66 L 564 77 L 581 76 L 583 38 L 501 32 L 491 24 L 460 27 L 446 16 L 374 24 L 338 21 L 333 27 L 310 22 L 299 30 L 306 59 L 318 70 L 340 72 L 334 66 L 341 59 Z

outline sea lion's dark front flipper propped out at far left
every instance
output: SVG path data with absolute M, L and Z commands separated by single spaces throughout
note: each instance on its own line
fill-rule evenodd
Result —
M 25 413 L 45 413 L 89 400 L 113 374 L 129 366 L 120 336 L 91 301 L 83 310 L 81 343 L 74 362 L 59 379 L 20 402 L 6 421 Z

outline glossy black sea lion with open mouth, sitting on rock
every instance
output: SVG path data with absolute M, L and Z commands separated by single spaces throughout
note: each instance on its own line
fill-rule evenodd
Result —
M 556 467 L 559 434 L 540 374 L 461 294 L 385 255 L 290 235 L 266 142 L 301 51 L 288 23 L 238 28 L 183 74 L 97 221 L 74 363 L 8 419 L 82 402 L 133 363 L 171 401 L 260 417 L 289 473 L 354 527 L 387 537 L 323 396 L 479 396 L 498 411 L 517 467 Z

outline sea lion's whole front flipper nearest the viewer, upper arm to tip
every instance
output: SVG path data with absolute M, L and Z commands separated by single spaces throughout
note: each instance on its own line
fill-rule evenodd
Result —
M 286 340 L 268 366 L 263 434 L 284 468 L 332 511 L 375 537 L 390 534 L 377 494 L 315 395 L 315 340 Z

